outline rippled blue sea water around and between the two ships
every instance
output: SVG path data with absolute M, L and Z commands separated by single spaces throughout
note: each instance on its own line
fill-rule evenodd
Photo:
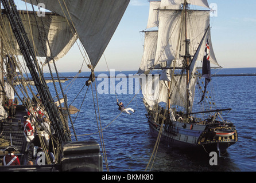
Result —
M 102 73 L 108 74 L 108 72 Z M 115 75 L 121 73 L 129 75 L 135 74 L 136 71 L 115 71 Z M 212 74 L 214 73 L 256 73 L 256 68 L 213 70 Z M 96 72 L 95 74 L 100 73 Z M 60 75 L 68 77 L 76 75 L 76 73 L 61 73 Z M 79 76 L 82 75 L 89 76 L 90 73 L 81 73 Z M 102 146 L 105 147 L 107 159 L 103 158 L 104 171 L 106 171 L 106 165 L 111 172 L 144 171 L 152 156 L 156 138 L 150 134 L 145 116 L 146 110 L 142 103 L 142 94 L 135 95 L 133 86 L 130 87 L 134 92 L 130 94 L 100 94 L 98 85 L 103 81 L 102 78 L 95 82 L 97 92 L 95 83 L 89 87 L 84 86 L 87 79 L 77 78 L 74 81 L 69 80 L 62 83 L 64 92 L 67 93 L 68 105 L 80 109 L 79 114 L 71 115 L 77 139 L 79 141 L 94 139 L 100 144 L 101 151 Z M 116 78 L 115 87 L 119 86 L 118 83 L 120 84 L 122 79 L 128 81 L 127 78 Z M 113 84 L 110 82 L 109 86 L 111 87 Z M 59 84 L 56 83 L 56 85 L 59 89 Z M 230 146 L 226 154 L 218 158 L 217 166 L 209 164 L 210 157 L 207 153 L 180 150 L 161 142 L 153 165 L 149 166 L 152 165 L 152 171 L 239 172 L 256 170 L 256 76 L 212 77 L 211 85 L 215 87 L 215 96 L 218 97 L 216 104 L 219 108 L 232 108 L 231 112 L 225 113 L 223 117 L 234 122 L 238 131 L 238 142 Z M 56 96 L 53 84 L 49 83 L 48 86 L 53 93 L 52 96 Z M 127 89 L 123 90 L 129 89 L 127 84 Z M 130 103 L 129 107 L 135 109 L 135 113 L 120 114 L 116 104 L 117 98 L 125 106 Z M 102 140 L 99 136 L 100 128 L 103 129 Z M 75 140 L 74 136 L 72 136 L 72 140 Z

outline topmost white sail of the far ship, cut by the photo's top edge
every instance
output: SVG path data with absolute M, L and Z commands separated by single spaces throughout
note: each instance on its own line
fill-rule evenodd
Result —
M 162 0 L 160 7 L 168 6 L 169 9 L 180 9 L 184 0 Z M 207 0 L 187 0 L 188 4 L 210 8 Z

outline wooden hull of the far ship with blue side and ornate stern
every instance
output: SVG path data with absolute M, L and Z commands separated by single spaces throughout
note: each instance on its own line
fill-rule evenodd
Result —
M 148 116 L 148 123 L 153 136 L 158 136 L 161 125 L 150 116 Z M 229 129 L 232 133 L 219 135 L 215 132 L 222 129 Z M 226 153 L 227 148 L 238 140 L 235 126 L 231 122 L 215 121 L 207 124 L 205 121 L 198 123 L 172 121 L 170 125 L 163 125 L 161 133 L 161 140 L 170 146 L 182 149 L 197 148 L 207 153 L 212 151 Z

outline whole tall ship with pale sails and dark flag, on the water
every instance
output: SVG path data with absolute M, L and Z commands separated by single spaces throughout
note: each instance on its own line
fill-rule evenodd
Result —
M 220 66 L 212 48 L 207 0 L 149 3 L 138 74 L 150 130 L 172 146 L 226 152 L 238 134 L 221 115 L 231 109 L 218 109 L 208 91 L 211 64 Z

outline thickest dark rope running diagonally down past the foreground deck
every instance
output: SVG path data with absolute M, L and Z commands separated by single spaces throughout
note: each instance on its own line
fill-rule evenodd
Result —
M 30 74 L 32 75 L 35 86 L 37 87 L 37 91 L 42 98 L 42 103 L 47 106 L 47 113 L 50 117 L 50 120 L 53 122 L 53 128 L 55 128 L 60 142 L 68 141 L 69 137 L 63 131 L 63 126 L 60 121 L 59 113 L 57 112 L 56 105 L 53 103 L 51 93 L 46 87 L 44 78 L 41 77 L 41 70 L 37 67 L 38 73 L 40 74 L 38 75 L 35 66 L 33 65 L 33 61 L 36 62 L 37 60 L 33 50 L 31 49 L 28 35 L 26 34 L 24 26 L 21 23 L 20 15 L 17 12 L 13 0 L 10 0 L 9 2 L 7 0 L 3 0 L 2 5 L 6 9 L 6 16 L 9 19 L 11 29 L 13 30 L 15 38 L 17 39 L 18 45 L 20 46 L 21 53 L 22 55 L 24 55 Z

